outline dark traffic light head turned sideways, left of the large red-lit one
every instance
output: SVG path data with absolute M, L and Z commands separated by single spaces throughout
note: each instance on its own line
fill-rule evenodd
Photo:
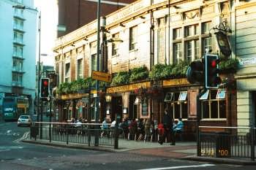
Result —
M 187 80 L 190 83 L 201 83 L 204 77 L 203 63 L 200 60 L 192 61 L 187 69 Z

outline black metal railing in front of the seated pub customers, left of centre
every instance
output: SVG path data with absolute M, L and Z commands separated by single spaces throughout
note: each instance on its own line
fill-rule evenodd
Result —
M 110 125 L 109 125 L 110 126 Z M 42 131 L 39 128 L 42 127 Z M 88 146 L 105 145 L 118 148 L 118 140 L 116 134 L 118 129 L 108 128 L 102 129 L 100 123 L 47 123 L 36 122 L 32 123 L 30 128 L 31 139 L 44 139 L 49 142 L 66 142 L 77 144 L 88 144 Z M 40 134 L 42 132 L 42 134 Z M 96 138 L 99 138 L 99 143 L 96 143 Z

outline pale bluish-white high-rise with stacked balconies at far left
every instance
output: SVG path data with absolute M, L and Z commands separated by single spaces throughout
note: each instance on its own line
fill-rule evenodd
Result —
M 37 56 L 37 12 L 15 9 L 34 7 L 33 0 L 0 2 L 0 101 L 4 96 L 27 96 L 33 112 Z M 1 104 L 1 102 L 0 102 Z

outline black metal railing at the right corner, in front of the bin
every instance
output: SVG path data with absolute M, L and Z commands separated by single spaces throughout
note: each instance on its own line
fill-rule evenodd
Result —
M 197 155 L 251 158 L 255 161 L 255 130 L 246 127 L 199 126 Z

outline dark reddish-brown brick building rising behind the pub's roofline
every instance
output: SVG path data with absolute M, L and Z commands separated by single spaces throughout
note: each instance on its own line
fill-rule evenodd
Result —
M 135 0 L 101 1 L 102 16 L 127 6 Z M 97 1 L 91 0 L 59 0 L 58 37 L 68 34 L 97 18 Z M 65 30 L 65 31 L 64 31 Z

